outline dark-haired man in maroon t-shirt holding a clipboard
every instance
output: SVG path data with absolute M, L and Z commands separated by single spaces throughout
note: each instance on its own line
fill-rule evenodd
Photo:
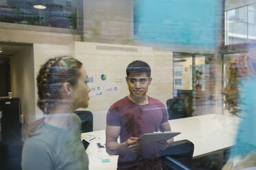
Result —
M 162 169 L 159 151 L 169 147 L 173 139 L 140 145 L 138 137 L 159 130 L 171 131 L 167 110 L 162 102 L 147 96 L 152 80 L 149 64 L 136 60 L 127 66 L 126 72 L 130 94 L 116 101 L 107 112 L 107 152 L 119 155 L 118 169 Z

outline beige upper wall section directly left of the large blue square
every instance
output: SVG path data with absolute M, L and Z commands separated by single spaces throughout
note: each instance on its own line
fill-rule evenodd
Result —
M 89 42 L 127 44 L 134 37 L 134 3 L 83 0 L 84 38 Z

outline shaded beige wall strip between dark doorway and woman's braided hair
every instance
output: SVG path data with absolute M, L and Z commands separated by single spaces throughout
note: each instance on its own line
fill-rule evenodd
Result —
M 25 47 L 10 57 L 10 77 L 13 97 L 21 99 L 21 110 L 25 123 L 34 121 L 34 58 L 33 47 Z

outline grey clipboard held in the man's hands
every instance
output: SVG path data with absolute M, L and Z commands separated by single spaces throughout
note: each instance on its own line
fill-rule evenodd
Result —
M 181 132 L 154 132 L 149 134 L 142 134 L 142 136 L 138 138 L 138 141 L 140 145 L 145 145 L 159 141 L 167 141 L 168 139 L 173 138 L 178 134 L 181 134 Z

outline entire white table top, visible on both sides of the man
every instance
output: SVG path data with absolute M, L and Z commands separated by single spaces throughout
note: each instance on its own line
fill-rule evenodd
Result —
M 235 134 L 239 119 L 226 117 L 218 114 L 206 114 L 197 117 L 170 120 L 172 132 L 182 132 L 175 136 L 174 141 L 188 139 L 195 145 L 193 158 L 198 158 L 213 151 L 219 151 L 231 147 L 235 143 Z M 89 169 L 116 169 L 118 156 L 109 156 L 105 148 L 102 150 L 102 157 L 110 162 L 102 163 L 98 158 L 98 147 L 96 143 L 105 143 L 105 130 L 89 132 L 98 138 L 90 142 L 87 148 L 89 156 Z

